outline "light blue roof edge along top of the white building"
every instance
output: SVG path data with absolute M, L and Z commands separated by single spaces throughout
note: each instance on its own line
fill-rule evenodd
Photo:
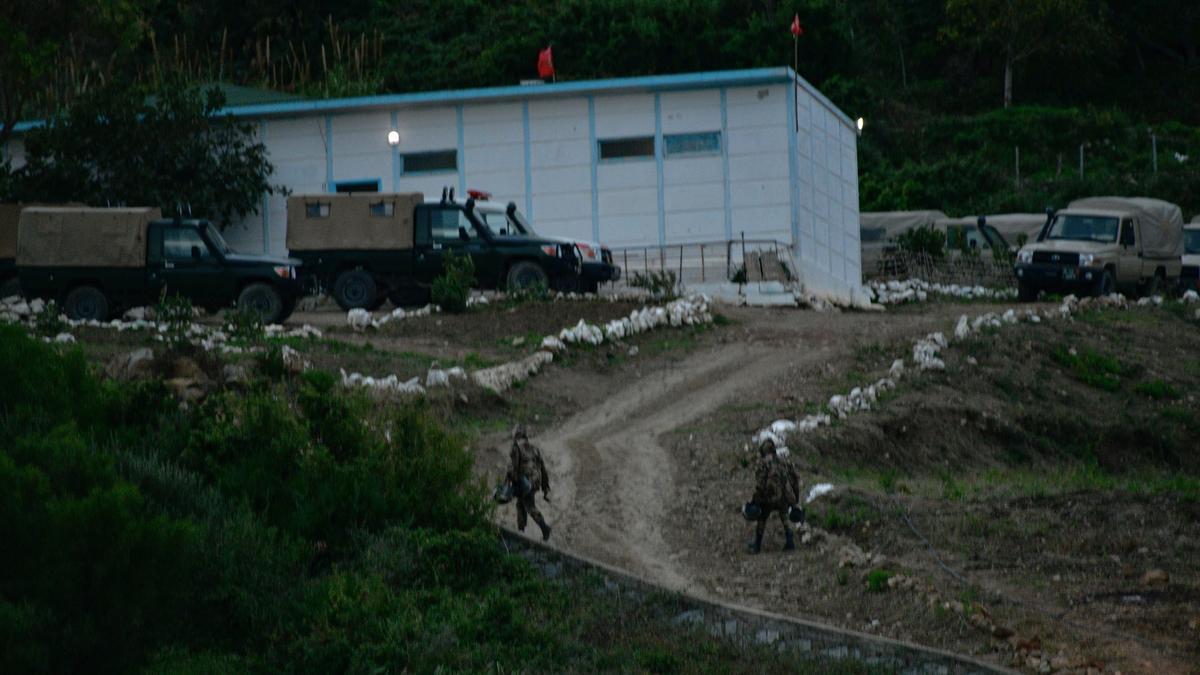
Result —
M 491 101 L 506 98 L 533 98 L 570 96 L 583 94 L 601 94 L 622 90 L 700 89 L 768 84 L 778 82 L 796 83 L 832 112 L 842 124 L 856 130 L 854 121 L 844 113 L 824 94 L 809 80 L 800 77 L 791 66 L 773 68 L 750 68 L 734 71 L 709 71 L 680 74 L 655 74 L 640 77 L 620 77 L 611 79 L 586 79 L 578 82 L 559 82 L 535 85 L 484 86 L 476 89 L 451 89 L 445 91 L 420 91 L 415 94 L 384 94 L 378 96 L 354 96 L 349 98 L 318 98 L 284 101 L 278 103 L 257 103 L 251 106 L 230 106 L 218 110 L 218 114 L 230 114 L 240 118 L 268 118 L 284 115 L 302 115 L 306 113 L 334 113 L 354 108 L 385 108 L 394 106 L 421 106 L 438 103 L 466 103 L 470 101 Z M 44 126 L 44 120 L 19 121 L 13 126 L 14 133 Z

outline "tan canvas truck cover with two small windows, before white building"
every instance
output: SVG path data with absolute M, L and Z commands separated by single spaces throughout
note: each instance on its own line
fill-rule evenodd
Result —
M 412 249 L 413 209 L 424 201 L 420 192 L 293 195 L 288 197 L 288 249 Z

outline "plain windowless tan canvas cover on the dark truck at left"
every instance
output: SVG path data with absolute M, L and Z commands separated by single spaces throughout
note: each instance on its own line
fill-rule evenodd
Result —
M 17 232 L 19 267 L 143 267 L 156 208 L 28 207 Z

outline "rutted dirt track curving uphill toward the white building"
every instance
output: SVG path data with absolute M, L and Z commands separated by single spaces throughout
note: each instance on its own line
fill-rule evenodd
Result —
M 721 344 L 648 369 L 534 438 L 553 480 L 546 507 L 552 544 L 614 565 L 664 587 L 707 595 L 667 540 L 679 460 L 660 443 L 756 387 L 880 340 L 948 330 L 962 306 L 919 315 L 817 313 L 722 307 L 737 323 Z M 970 311 L 970 310 L 966 310 Z M 749 440 L 749 436 L 748 438 Z M 678 537 L 673 537 L 678 539 Z

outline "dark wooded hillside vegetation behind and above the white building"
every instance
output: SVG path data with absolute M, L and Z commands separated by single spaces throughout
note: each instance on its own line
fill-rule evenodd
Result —
M 0 141 L 110 80 L 494 85 L 533 77 L 546 44 L 560 80 L 779 66 L 793 13 L 800 73 L 868 120 L 864 210 L 1039 210 L 1097 192 L 1200 210 L 1190 0 L 17 0 L 0 10 Z

